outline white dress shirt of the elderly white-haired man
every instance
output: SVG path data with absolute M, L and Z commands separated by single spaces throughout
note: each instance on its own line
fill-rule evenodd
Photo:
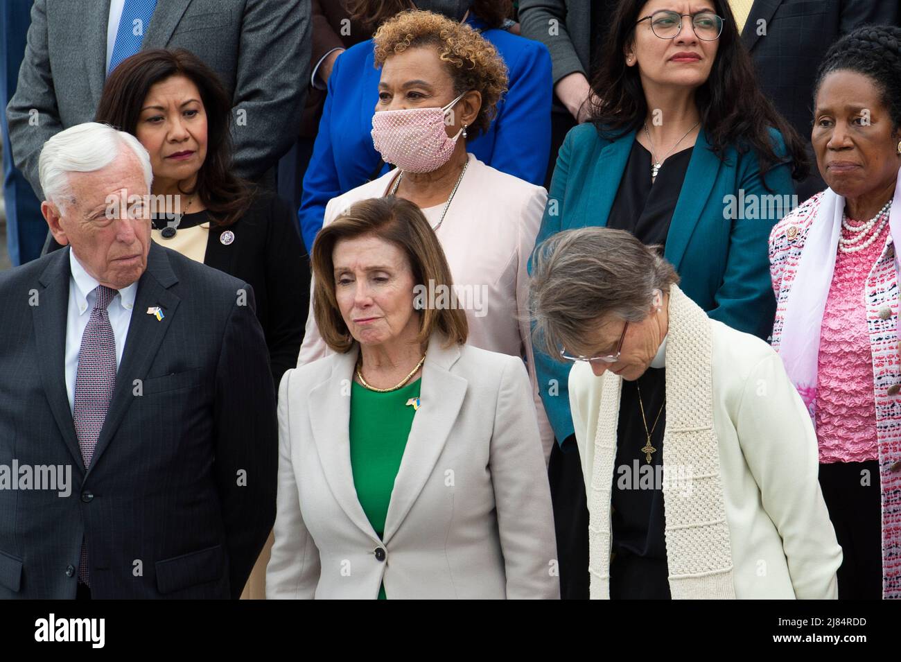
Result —
M 91 310 L 97 300 L 94 291 L 100 284 L 81 266 L 72 249 L 68 249 L 68 264 L 72 277 L 68 281 L 68 318 L 66 322 L 66 393 L 68 406 L 75 413 L 75 376 L 78 372 L 78 352 L 81 350 L 81 337 L 85 333 L 87 322 L 91 319 Z M 106 311 L 115 336 L 115 367 L 119 369 L 125 339 L 128 337 L 128 326 L 132 322 L 134 297 L 138 292 L 138 281 L 119 290 L 113 297 Z

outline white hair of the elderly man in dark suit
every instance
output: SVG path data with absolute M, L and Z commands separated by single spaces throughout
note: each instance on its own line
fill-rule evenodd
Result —
M 150 191 L 153 168 L 150 155 L 131 133 L 116 131 L 108 124 L 85 122 L 50 137 L 41 149 L 38 175 L 44 198 L 53 204 L 74 202 L 68 183 L 70 172 L 94 172 L 110 165 L 128 147 L 141 163 Z

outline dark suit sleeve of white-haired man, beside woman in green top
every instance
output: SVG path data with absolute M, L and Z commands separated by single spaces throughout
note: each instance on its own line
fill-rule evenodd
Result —
M 278 422 L 266 341 L 249 285 L 235 293 L 216 368 L 215 466 L 232 598 L 241 591 L 276 516 Z

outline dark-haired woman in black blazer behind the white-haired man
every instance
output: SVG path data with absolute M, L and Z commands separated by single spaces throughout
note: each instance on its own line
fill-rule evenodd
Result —
M 235 131 L 252 119 L 239 110 Z M 278 389 L 303 340 L 309 264 L 287 204 L 232 173 L 232 104 L 219 78 L 187 50 L 142 51 L 106 79 L 96 121 L 150 153 L 153 240 L 253 287 Z

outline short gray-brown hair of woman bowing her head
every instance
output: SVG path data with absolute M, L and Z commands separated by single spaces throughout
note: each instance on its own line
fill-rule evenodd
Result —
M 669 294 L 679 281 L 657 248 L 630 232 L 596 227 L 543 241 L 532 257 L 529 284 L 535 344 L 560 360 L 560 347 L 578 347 L 601 318 L 641 322 L 654 290 Z

